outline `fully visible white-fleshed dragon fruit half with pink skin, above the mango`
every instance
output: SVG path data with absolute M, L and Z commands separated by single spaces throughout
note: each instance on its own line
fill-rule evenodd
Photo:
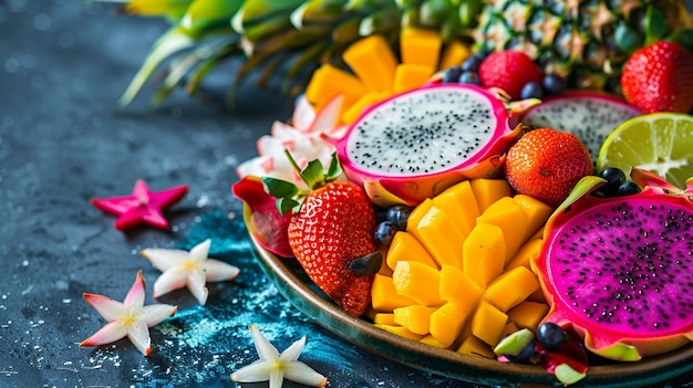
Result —
M 520 129 L 474 85 L 433 84 L 368 108 L 337 141 L 349 179 L 379 206 L 415 206 L 464 179 L 500 172 Z

